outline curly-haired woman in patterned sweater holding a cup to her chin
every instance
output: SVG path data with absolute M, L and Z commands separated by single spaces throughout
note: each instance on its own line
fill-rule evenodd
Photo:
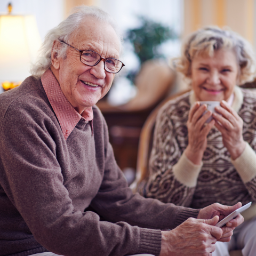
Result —
M 256 252 L 256 97 L 238 85 L 251 81 L 254 65 L 233 31 L 206 27 L 188 37 L 176 67 L 192 90 L 159 111 L 150 178 L 139 186 L 145 197 L 194 209 L 252 201 L 229 244 L 244 256 Z M 220 104 L 212 113 L 200 101 Z M 225 248 L 218 255 L 229 255 Z

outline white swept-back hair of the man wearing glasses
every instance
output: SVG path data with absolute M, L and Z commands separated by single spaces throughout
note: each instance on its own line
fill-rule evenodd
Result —
M 60 22 L 60 24 L 51 29 L 45 36 L 44 42 L 39 49 L 39 55 L 36 62 L 31 65 L 30 73 L 40 78 L 44 72 L 51 66 L 51 53 L 54 41 L 65 41 L 69 43 L 71 34 L 76 33 L 80 23 L 86 17 L 94 17 L 99 21 L 107 22 L 112 26 L 119 37 L 120 49 L 121 49 L 121 35 L 119 34 L 116 21 L 105 11 L 95 6 L 77 6 L 73 9 L 73 13 L 69 15 L 66 20 Z M 54 49 L 58 56 L 65 59 L 68 46 L 61 44 L 61 47 Z

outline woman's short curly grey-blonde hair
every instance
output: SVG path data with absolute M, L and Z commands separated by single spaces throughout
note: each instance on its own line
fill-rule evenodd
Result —
M 174 66 L 186 78 L 191 76 L 191 62 L 195 56 L 212 57 L 220 49 L 234 50 L 238 62 L 238 85 L 253 80 L 256 66 L 252 46 L 242 36 L 230 29 L 209 26 L 188 36 L 182 45 L 181 57 L 174 59 Z

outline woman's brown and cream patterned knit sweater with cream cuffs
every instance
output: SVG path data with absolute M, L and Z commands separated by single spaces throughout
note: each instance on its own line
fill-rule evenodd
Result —
M 195 209 L 215 202 L 233 205 L 256 203 L 256 97 L 235 87 L 232 107 L 242 117 L 243 154 L 235 161 L 223 146 L 221 133 L 213 127 L 201 165 L 183 154 L 188 146 L 187 120 L 193 92 L 169 101 L 159 111 L 150 157 L 150 179 L 140 184 L 140 193 L 162 202 Z M 256 215 L 255 206 L 250 208 Z M 253 212 L 252 212 L 253 211 Z

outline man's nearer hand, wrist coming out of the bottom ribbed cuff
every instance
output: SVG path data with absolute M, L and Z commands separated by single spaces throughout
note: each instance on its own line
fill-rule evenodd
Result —
M 198 220 L 189 218 L 171 231 L 162 231 L 162 246 L 159 256 L 209 256 L 215 250 L 221 228 L 215 227 L 219 218 Z

